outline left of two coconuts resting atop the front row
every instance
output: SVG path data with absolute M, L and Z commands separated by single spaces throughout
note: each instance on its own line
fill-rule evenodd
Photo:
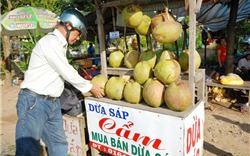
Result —
M 143 84 L 152 76 L 152 68 L 147 61 L 139 62 L 135 66 L 133 76 L 138 83 Z

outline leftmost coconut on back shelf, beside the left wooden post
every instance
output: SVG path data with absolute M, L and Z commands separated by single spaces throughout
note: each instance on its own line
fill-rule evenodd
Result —
M 111 52 L 109 55 L 109 64 L 113 68 L 117 68 L 123 65 L 124 54 L 120 50 Z

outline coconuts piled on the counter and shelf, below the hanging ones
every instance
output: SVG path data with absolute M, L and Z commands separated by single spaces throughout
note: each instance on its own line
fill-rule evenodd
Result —
M 114 54 L 117 58 L 123 58 L 121 53 L 115 51 Z M 186 111 L 192 104 L 192 94 L 187 84 L 180 79 L 180 63 L 173 52 L 167 50 L 161 58 L 156 62 L 156 54 L 152 50 L 141 54 L 136 50 L 130 51 L 125 55 L 124 65 L 133 69 L 132 75 L 111 76 L 108 80 L 98 75 L 92 80 L 93 84 L 100 81 L 109 99 L 125 100 L 130 104 L 138 104 L 143 100 L 153 108 L 165 103 L 172 111 Z

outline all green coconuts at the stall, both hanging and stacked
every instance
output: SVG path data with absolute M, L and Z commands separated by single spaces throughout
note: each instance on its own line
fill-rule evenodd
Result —
M 167 9 L 165 13 L 151 18 L 143 15 L 139 6 L 129 5 L 122 10 L 122 18 L 125 25 L 134 28 L 137 34 L 153 36 L 161 44 L 175 42 L 182 33 L 182 25 Z M 198 69 L 201 57 L 197 51 L 195 62 L 195 68 Z M 178 60 L 174 52 L 166 49 L 156 55 L 152 46 L 144 51 L 131 50 L 127 53 L 115 50 L 109 56 L 109 65 L 112 68 L 129 68 L 130 75 L 126 79 L 119 74 L 119 77 L 111 76 L 108 80 L 100 80 L 106 81 L 104 91 L 109 99 L 125 100 L 130 104 L 143 101 L 152 108 L 165 106 L 176 112 L 186 111 L 192 105 L 191 91 L 180 78 L 181 71 L 189 69 L 188 50 L 184 50 Z

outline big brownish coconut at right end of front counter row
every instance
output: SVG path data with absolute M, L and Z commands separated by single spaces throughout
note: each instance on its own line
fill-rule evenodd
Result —
M 192 94 L 183 81 L 172 82 L 164 93 L 167 107 L 173 111 L 185 111 L 192 105 Z

